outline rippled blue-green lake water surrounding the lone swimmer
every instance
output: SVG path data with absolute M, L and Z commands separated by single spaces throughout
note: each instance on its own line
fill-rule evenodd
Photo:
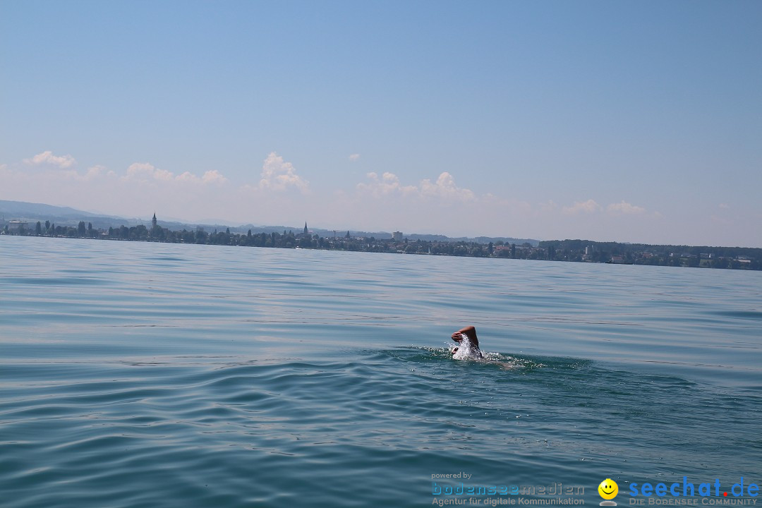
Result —
M 762 481 L 760 272 L 10 236 L 0 260 L 2 506 Z M 490 362 L 450 359 L 466 324 Z

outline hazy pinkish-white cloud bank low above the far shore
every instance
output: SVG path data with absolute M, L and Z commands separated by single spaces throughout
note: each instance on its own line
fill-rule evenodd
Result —
M 357 154 L 354 154 L 357 155 Z M 355 159 L 357 160 L 357 159 Z M 0 164 L 0 199 L 66 204 L 108 214 L 152 213 L 230 224 L 310 224 L 375 231 L 505 235 L 524 238 L 644 238 L 664 217 L 627 200 L 529 203 L 477 193 L 443 171 L 405 181 L 392 171 L 370 172 L 344 188 L 313 190 L 296 166 L 270 152 L 251 179 L 233 183 L 218 169 L 194 173 L 136 161 L 122 169 L 77 170 L 72 155 L 41 152 Z M 359 179 L 359 177 L 358 177 Z M 723 209 L 725 207 L 722 207 Z M 658 227 L 656 227 L 658 222 Z

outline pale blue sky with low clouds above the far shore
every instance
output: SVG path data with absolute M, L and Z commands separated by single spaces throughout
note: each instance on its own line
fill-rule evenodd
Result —
M 0 199 L 762 247 L 762 2 L 0 0 Z

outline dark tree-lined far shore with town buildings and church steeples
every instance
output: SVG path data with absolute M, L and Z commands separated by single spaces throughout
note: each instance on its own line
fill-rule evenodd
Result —
M 386 252 L 438 256 L 501 257 L 524 260 L 575 261 L 610 264 L 644 264 L 668 267 L 722 268 L 762 270 L 762 248 L 708 247 L 687 245 L 651 245 L 588 240 L 550 240 L 509 243 L 505 241 L 412 240 L 402 232 L 391 238 L 344 235 L 320 236 L 304 229 L 293 232 L 207 232 L 198 227 L 171 230 L 158 225 L 154 214 L 150 225 L 118 228 L 94 228 L 91 222 L 79 221 L 76 227 L 37 221 L 34 225 L 21 220 L 8 221 L 2 235 L 45 236 L 54 238 L 92 238 L 112 241 L 159 241 L 181 244 L 213 244 L 261 248 L 301 248 L 328 251 Z

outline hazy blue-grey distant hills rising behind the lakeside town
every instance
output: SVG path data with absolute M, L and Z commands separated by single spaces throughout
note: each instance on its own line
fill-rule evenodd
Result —
M 118 228 L 121 225 L 126 226 L 133 226 L 133 225 L 139 225 L 139 224 L 149 224 L 149 220 L 146 219 L 126 219 L 124 217 L 119 216 L 107 216 L 107 215 L 99 215 L 97 213 L 92 212 L 85 212 L 83 210 L 78 210 L 74 208 L 70 208 L 69 206 L 53 206 L 53 205 L 46 205 L 43 203 L 25 203 L 23 201 L 7 201 L 7 200 L 0 200 L 0 219 L 5 219 L 5 222 L 8 222 L 9 220 L 23 220 L 26 222 L 37 222 L 42 221 L 45 222 L 46 220 L 49 220 L 50 222 L 55 223 L 56 225 L 77 225 L 79 221 L 85 221 L 85 222 L 91 222 L 94 228 L 97 229 L 108 229 L 108 228 Z M 304 228 L 304 226 L 301 227 L 293 227 L 293 226 L 283 226 L 283 225 L 252 225 L 252 224 L 245 224 L 245 225 L 238 225 L 238 226 L 232 226 L 232 225 L 226 225 L 226 224 L 203 224 L 203 223 L 193 223 L 193 222 L 179 222 L 179 221 L 164 221 L 162 219 L 158 219 L 158 225 L 161 225 L 163 228 L 168 228 L 173 231 L 178 231 L 181 229 L 196 229 L 196 228 L 203 228 L 207 232 L 213 232 L 214 230 L 224 230 L 226 228 L 230 228 L 231 232 L 234 233 L 245 233 L 248 232 L 249 229 L 251 229 L 252 233 L 282 233 L 283 231 L 293 231 L 295 233 L 301 232 Z M 334 231 L 332 229 L 319 229 L 319 228 L 310 228 L 310 231 L 313 234 L 317 234 L 320 236 L 325 237 L 331 237 L 334 234 Z M 336 235 L 338 236 L 344 236 L 346 234 L 346 230 L 337 230 Z M 375 237 L 379 239 L 383 238 L 392 238 L 392 233 L 389 232 L 364 232 L 364 231 L 350 231 L 350 235 L 354 237 L 358 236 L 364 236 L 364 237 Z M 460 238 L 450 238 L 444 235 L 424 235 L 424 234 L 418 234 L 413 233 L 411 235 L 405 235 L 405 238 L 408 238 L 408 240 L 422 240 L 422 241 L 475 241 L 478 243 L 488 244 L 489 242 L 496 242 L 496 241 L 503 241 L 504 243 L 514 243 L 514 244 L 523 244 L 525 242 L 528 242 L 532 244 L 533 246 L 536 246 L 539 241 L 533 240 L 531 238 L 506 238 L 506 237 L 486 237 L 486 236 L 479 236 L 476 238 L 466 238 L 466 237 L 460 237 Z

